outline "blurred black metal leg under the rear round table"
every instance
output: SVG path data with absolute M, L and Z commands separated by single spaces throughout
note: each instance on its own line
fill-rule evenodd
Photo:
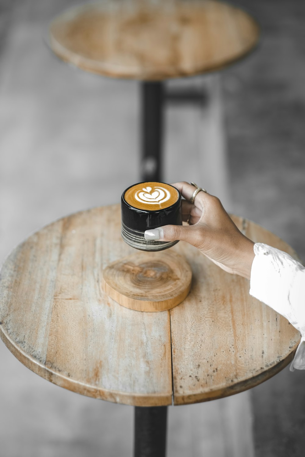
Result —
M 161 181 L 163 83 L 143 81 L 140 84 L 142 104 L 141 180 Z

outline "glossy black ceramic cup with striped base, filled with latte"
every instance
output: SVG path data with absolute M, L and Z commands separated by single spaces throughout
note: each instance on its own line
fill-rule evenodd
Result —
M 146 240 L 145 230 L 182 225 L 182 198 L 176 187 L 162 182 L 140 182 L 128 187 L 121 198 L 123 240 L 135 249 L 161 251 L 178 241 Z

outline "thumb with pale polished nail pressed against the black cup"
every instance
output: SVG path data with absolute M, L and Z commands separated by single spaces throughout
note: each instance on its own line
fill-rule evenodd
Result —
M 196 246 L 200 242 L 198 228 L 194 225 L 164 225 L 163 227 L 153 228 L 144 232 L 147 240 L 158 239 L 159 241 L 182 240 Z

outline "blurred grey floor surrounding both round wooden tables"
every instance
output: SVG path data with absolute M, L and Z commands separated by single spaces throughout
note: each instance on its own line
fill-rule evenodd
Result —
M 139 83 L 75 69 L 46 44 L 48 22 L 75 4 L 0 0 L 1 262 L 32 231 L 117 203 L 140 178 Z M 234 4 L 261 24 L 259 46 L 225 70 L 166 83 L 200 87 L 206 102 L 166 106 L 163 180 L 197 182 L 304 260 L 305 3 Z M 1 457 L 131 455 L 131 407 L 46 382 L 2 342 L 0 362 Z M 304 379 L 286 368 L 241 400 L 170 407 L 168 456 L 303 455 Z M 242 414 L 244 453 L 232 439 Z

